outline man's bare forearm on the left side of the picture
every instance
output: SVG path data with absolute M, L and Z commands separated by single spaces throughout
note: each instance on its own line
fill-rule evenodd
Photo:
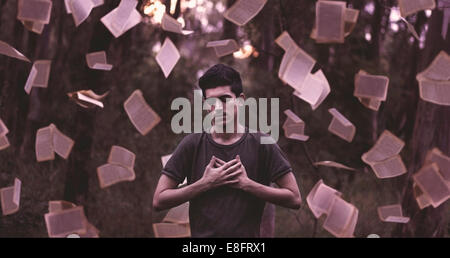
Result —
M 156 210 L 165 210 L 178 206 L 207 190 L 208 186 L 202 180 L 182 188 L 166 189 L 159 193 L 158 202 L 154 205 L 154 208 Z

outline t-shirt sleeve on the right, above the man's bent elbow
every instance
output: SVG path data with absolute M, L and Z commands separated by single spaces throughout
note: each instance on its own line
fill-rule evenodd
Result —
M 275 182 L 281 176 L 292 172 L 292 167 L 286 154 L 276 143 L 266 144 L 266 162 L 270 182 Z

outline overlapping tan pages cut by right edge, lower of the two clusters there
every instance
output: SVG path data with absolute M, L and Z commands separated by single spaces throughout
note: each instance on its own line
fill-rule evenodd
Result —
M 437 148 L 428 151 L 424 166 L 413 175 L 413 180 L 419 208 L 438 207 L 450 198 L 450 157 Z

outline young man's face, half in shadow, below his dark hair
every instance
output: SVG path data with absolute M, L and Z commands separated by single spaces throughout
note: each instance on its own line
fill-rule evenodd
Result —
M 213 123 L 215 126 L 225 126 L 228 123 L 237 122 L 237 98 L 244 98 L 244 94 L 236 96 L 231 91 L 231 86 L 218 86 L 205 90 L 205 98 L 216 98 L 216 104 L 210 106 L 209 112 L 215 112 Z M 223 111 L 223 113 L 222 113 Z

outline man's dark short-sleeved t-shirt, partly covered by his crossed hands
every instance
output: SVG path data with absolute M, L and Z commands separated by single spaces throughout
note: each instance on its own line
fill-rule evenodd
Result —
M 248 177 L 269 185 L 292 171 L 277 144 L 260 144 L 261 133 L 244 133 L 230 145 L 215 142 L 208 133 L 186 136 L 162 173 L 181 183 L 192 184 L 203 176 L 214 155 L 227 162 L 239 154 Z M 204 192 L 190 200 L 192 237 L 259 237 L 265 201 L 229 186 Z

